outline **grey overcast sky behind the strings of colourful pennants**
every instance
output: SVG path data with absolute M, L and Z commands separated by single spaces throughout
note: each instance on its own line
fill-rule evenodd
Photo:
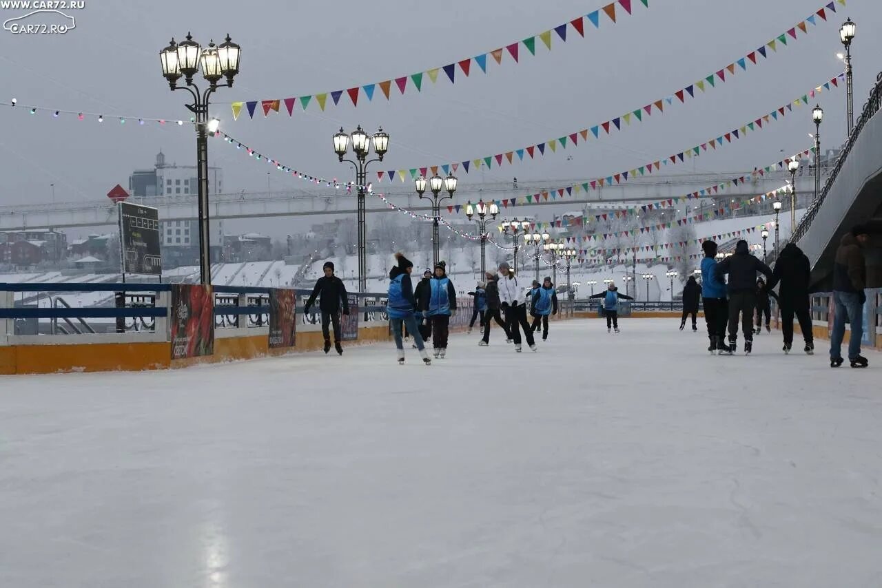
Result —
M 475 56 L 506 43 L 567 22 L 603 3 L 585 0 L 452 0 L 426 4 L 411 0 L 292 3 L 152 3 L 101 4 L 86 0 L 76 11 L 77 26 L 64 35 L 18 35 L 0 31 L 0 100 L 101 112 L 188 118 L 186 94 L 171 93 L 161 78 L 158 52 L 174 35 L 188 30 L 206 44 L 226 33 L 243 47 L 242 71 L 233 88 L 214 95 L 213 114 L 222 128 L 288 165 L 327 177 L 348 179 L 336 161 L 331 136 L 362 123 L 382 124 L 392 137 L 383 168 L 418 167 L 474 159 L 559 137 L 601 123 L 706 76 L 744 56 L 794 26 L 822 6 L 821 0 L 650 0 L 646 9 L 633 0 L 633 16 L 617 25 L 602 17 L 588 25 L 584 39 L 569 30 L 568 41 L 555 37 L 553 50 L 537 41 L 535 57 L 519 64 L 506 55 L 502 66 L 490 58 L 488 74 L 464 78 L 457 71 L 451 85 L 444 73 L 428 79 L 423 92 L 408 87 L 392 100 L 379 90 L 372 102 L 353 108 L 344 94 L 340 106 L 324 113 L 310 106 L 264 119 L 243 114 L 232 120 L 228 102 L 285 98 L 351 86 L 437 67 Z M 767 114 L 811 87 L 833 78 L 844 67 L 839 26 L 857 22 L 854 44 L 856 114 L 880 69 L 882 39 L 872 28 L 882 22 L 882 3 L 849 0 L 809 34 L 799 34 L 787 48 L 770 51 L 768 60 L 739 71 L 734 78 L 685 105 L 665 108 L 600 141 L 545 158 L 494 167 L 460 182 L 542 178 L 589 179 L 638 167 L 704 142 Z M 0 10 L 0 19 L 22 11 Z M 523 47 L 521 47 L 523 53 Z M 474 67 L 474 63 L 473 63 Z M 476 70 L 476 68 L 475 68 Z M 845 129 L 844 88 L 822 94 L 826 118 L 821 136 L 839 145 Z M 222 103 L 221 103 L 222 102 Z M 329 104 L 331 100 L 329 99 Z M 259 106 L 258 106 L 259 110 Z M 802 114 L 799 114 L 799 113 Z M 58 201 L 104 198 L 117 182 L 127 185 L 135 168 L 151 167 L 162 149 L 169 161 L 192 165 L 195 140 L 190 127 L 120 125 L 108 118 L 53 119 L 24 108 L 3 107 L 0 133 L 0 203 L 48 202 L 50 184 Z M 811 111 L 796 115 L 702 156 L 695 168 L 706 171 L 750 170 L 811 145 Z M 228 191 L 266 190 L 266 167 L 241 152 L 212 143 L 212 165 L 224 170 Z M 572 156 L 572 160 L 568 159 Z M 691 167 L 691 166 L 690 166 Z M 272 190 L 303 188 L 284 175 L 271 177 Z M 400 184 L 399 184 L 400 185 Z

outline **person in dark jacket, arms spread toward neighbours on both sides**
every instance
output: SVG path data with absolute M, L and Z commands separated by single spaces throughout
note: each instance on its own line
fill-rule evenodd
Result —
M 738 341 L 738 315 L 744 332 L 744 353 L 753 350 L 753 309 L 757 303 L 757 272 L 772 277 L 768 265 L 754 257 L 744 239 L 735 245 L 735 255 L 723 259 L 716 266 L 716 277 L 722 281 L 729 274 L 729 348 L 736 351 Z

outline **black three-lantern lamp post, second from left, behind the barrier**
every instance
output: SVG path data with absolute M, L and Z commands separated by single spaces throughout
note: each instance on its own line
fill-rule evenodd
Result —
M 343 159 L 352 144 L 352 153 L 355 161 Z M 368 166 L 375 161 L 382 161 L 383 156 L 389 149 L 389 135 L 380 127 L 373 136 L 374 153 L 377 158 L 368 160 L 370 153 L 370 136 L 364 132 L 362 125 L 347 135 L 343 128 L 333 136 L 333 151 L 337 153 L 340 161 L 346 161 L 355 167 L 355 184 L 358 188 L 358 291 L 366 292 L 368 289 L 368 229 L 367 208 L 364 203 L 364 190 L 367 189 Z

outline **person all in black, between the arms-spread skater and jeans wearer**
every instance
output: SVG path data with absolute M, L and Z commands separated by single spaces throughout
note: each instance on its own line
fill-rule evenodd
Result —
M 779 282 L 778 306 L 781 307 L 781 331 L 784 333 L 784 353 L 790 353 L 793 345 L 793 316 L 799 321 L 799 330 L 803 331 L 805 340 L 804 352 L 815 353 L 814 337 L 811 332 L 811 314 L 809 312 L 809 281 L 811 264 L 802 249 L 795 243 L 788 243 L 781 249 L 781 255 L 775 261 L 772 279 L 766 284 L 769 294 Z

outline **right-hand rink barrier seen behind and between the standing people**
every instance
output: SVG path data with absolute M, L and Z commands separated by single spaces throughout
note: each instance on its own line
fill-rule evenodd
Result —
M 864 290 L 867 301 L 863 305 L 863 340 L 862 346 L 882 351 L 882 288 L 867 288 Z M 811 335 L 813 339 L 830 340 L 833 332 L 833 316 L 835 305 L 833 304 L 832 292 L 818 292 L 810 294 L 811 304 Z M 781 309 L 772 300 L 772 326 L 781 330 Z M 793 321 L 794 339 L 802 335 L 799 323 Z M 845 338 L 842 344 L 846 345 L 851 340 L 851 326 L 845 324 Z

